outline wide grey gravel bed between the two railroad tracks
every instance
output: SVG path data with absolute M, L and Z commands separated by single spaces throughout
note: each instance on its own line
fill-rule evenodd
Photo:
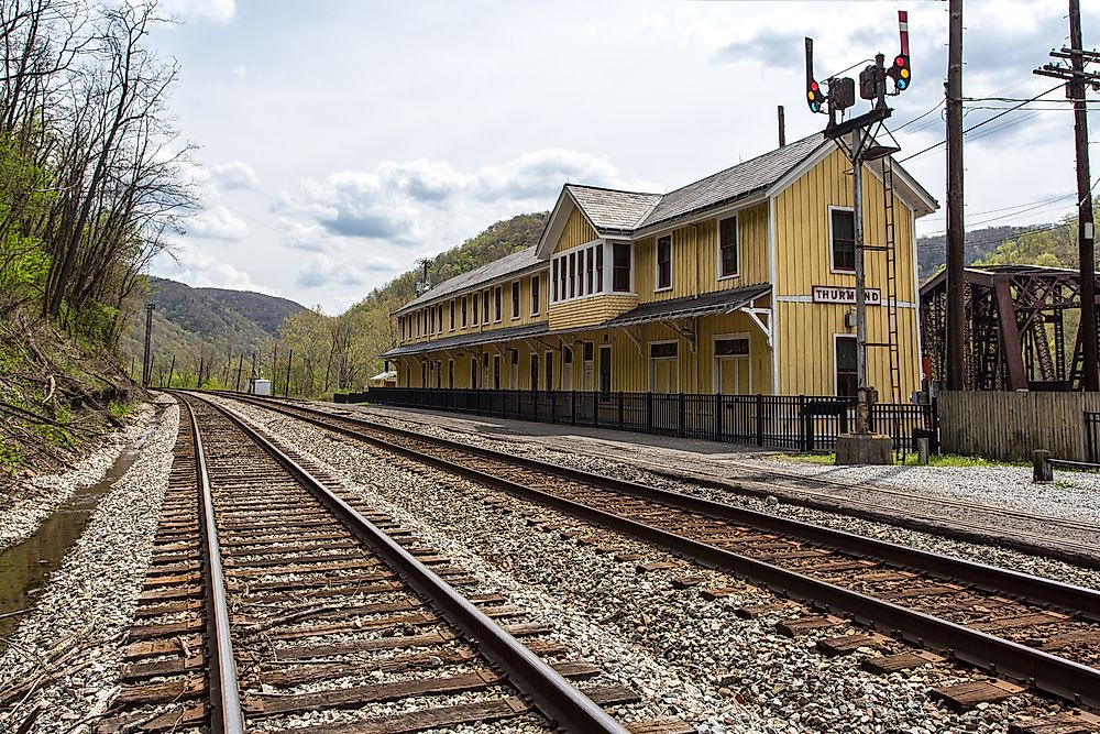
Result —
M 817 635 L 791 639 L 774 632 L 777 615 L 744 621 L 734 611 L 774 602 L 766 590 L 694 567 L 639 574 L 597 546 L 532 528 L 530 513 L 584 529 L 618 552 L 647 561 L 669 556 L 629 538 L 508 499 L 519 512 L 487 506 L 470 495 L 497 495 L 469 482 L 336 438 L 293 419 L 234 406 L 285 441 L 344 476 L 343 491 L 362 493 L 457 563 L 487 579 L 509 600 L 541 610 L 543 620 L 605 675 L 641 691 L 647 710 L 692 721 L 702 732 L 1003 732 L 1005 722 L 1048 704 L 1023 695 L 964 714 L 927 699 L 932 687 L 968 680 L 946 665 L 875 677 L 859 668 L 865 653 L 823 658 Z M 322 438 L 323 436 L 323 438 Z M 734 587 L 707 600 L 678 589 L 685 573 L 704 587 Z M 799 616 L 805 611 L 789 612 Z M 831 629 L 826 635 L 838 634 Z M 900 651 L 901 648 L 890 651 Z

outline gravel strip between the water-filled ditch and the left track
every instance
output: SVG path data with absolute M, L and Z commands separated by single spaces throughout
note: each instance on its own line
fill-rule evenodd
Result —
M 0 731 L 14 731 L 38 709 L 34 732 L 77 734 L 88 731 L 80 722 L 106 710 L 148 565 L 178 419 L 175 405 L 164 412 L 9 640 L 0 656 L 0 691 L 28 681 L 34 688 L 0 710 Z

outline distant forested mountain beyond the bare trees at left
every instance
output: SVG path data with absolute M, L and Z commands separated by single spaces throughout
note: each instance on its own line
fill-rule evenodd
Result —
M 305 307 L 293 300 L 250 291 L 227 288 L 193 288 L 183 283 L 160 277 L 150 278 L 150 293 L 134 309 L 129 329 L 122 335 L 119 353 L 129 368 L 140 372 L 145 339 L 145 304 L 153 303 L 152 354 L 153 384 L 167 380 L 172 358 L 176 358 L 176 375 L 193 383 L 200 361 L 206 366 L 213 361 L 224 365 L 244 354 L 267 349 L 278 326 Z M 217 370 L 204 370 L 219 375 Z M 220 372 L 224 383 L 227 373 Z M 175 384 L 182 384 L 173 381 Z

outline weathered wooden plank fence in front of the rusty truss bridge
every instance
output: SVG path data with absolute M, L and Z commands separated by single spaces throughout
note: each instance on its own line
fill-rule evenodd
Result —
M 1088 461 L 1085 413 L 1100 393 L 939 393 L 943 451 L 1001 461 L 1031 461 L 1046 449 L 1056 459 Z

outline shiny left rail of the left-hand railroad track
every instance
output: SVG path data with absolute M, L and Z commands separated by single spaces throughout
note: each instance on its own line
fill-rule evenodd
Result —
M 244 734 L 244 710 L 241 706 L 241 691 L 238 687 L 237 660 L 233 657 L 233 640 L 230 636 L 229 603 L 226 599 L 226 576 L 221 563 L 221 548 L 218 545 L 218 525 L 213 514 L 213 495 L 210 491 L 210 473 L 206 464 L 206 451 L 199 432 L 198 419 L 186 401 L 180 405 L 187 410 L 195 441 L 195 464 L 199 480 L 199 512 L 202 540 L 206 546 L 204 565 L 207 585 L 207 647 L 210 656 L 210 728 L 216 734 Z

